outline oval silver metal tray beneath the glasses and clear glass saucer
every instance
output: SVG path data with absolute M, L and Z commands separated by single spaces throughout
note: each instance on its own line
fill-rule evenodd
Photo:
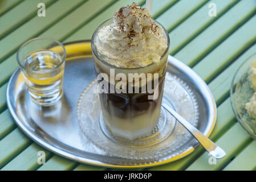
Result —
M 54 107 L 40 107 L 29 99 L 21 71 L 17 69 L 7 86 L 7 105 L 15 123 L 32 140 L 64 158 L 95 166 L 113 168 L 152 167 L 172 162 L 190 154 L 198 146 L 192 136 L 175 151 L 156 162 L 132 160 L 97 154 L 84 150 L 80 137 L 76 109 L 83 90 L 95 80 L 94 60 L 90 40 L 64 44 L 67 62 L 64 72 L 64 98 Z M 217 118 L 216 103 L 205 82 L 181 61 L 168 57 L 167 71 L 184 82 L 197 102 L 197 128 L 207 137 L 214 128 Z

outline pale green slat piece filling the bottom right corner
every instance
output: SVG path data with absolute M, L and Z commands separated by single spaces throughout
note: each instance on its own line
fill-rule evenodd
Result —
M 253 141 L 235 157 L 225 168 L 224 171 L 249 171 L 256 168 L 256 141 Z

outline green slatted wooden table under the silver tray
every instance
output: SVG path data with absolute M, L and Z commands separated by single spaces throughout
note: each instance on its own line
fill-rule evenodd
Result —
M 135 0 L 0 0 L 0 169 L 1 170 L 105 170 L 64 159 L 40 147 L 15 125 L 6 105 L 6 86 L 18 68 L 15 53 L 36 36 L 61 42 L 91 39 L 95 28 L 121 6 Z M 46 16 L 38 17 L 38 3 Z M 145 1 L 136 1 L 145 6 Z M 209 16 L 215 3 L 217 16 Z M 256 142 L 235 119 L 229 88 L 234 72 L 256 52 L 254 0 L 154 0 L 153 18 L 170 35 L 170 55 L 188 64 L 209 85 L 218 106 L 210 139 L 224 148 L 225 158 L 210 162 L 204 148 L 149 170 L 254 170 Z M 39 165 L 38 151 L 46 152 Z M 143 169 L 145 170 L 145 169 Z

